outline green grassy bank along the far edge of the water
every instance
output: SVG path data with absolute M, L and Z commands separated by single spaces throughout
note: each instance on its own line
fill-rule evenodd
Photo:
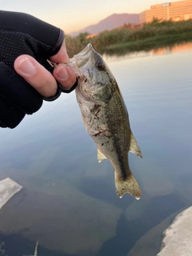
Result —
M 169 46 L 178 42 L 192 41 L 192 20 L 182 22 L 153 22 L 142 27 L 131 29 L 130 26 L 104 31 L 93 38 L 88 34 L 77 37 L 66 36 L 67 50 L 70 57 L 77 54 L 89 42 L 101 54 L 121 54 L 129 51 L 151 50 L 161 46 Z

